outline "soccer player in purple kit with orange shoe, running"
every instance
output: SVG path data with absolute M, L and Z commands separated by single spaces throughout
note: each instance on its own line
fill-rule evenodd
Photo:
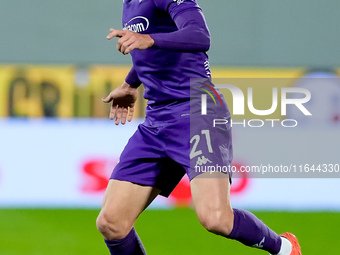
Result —
M 146 254 L 135 221 L 186 173 L 195 212 L 208 231 L 270 254 L 301 254 L 293 234 L 279 236 L 252 213 L 232 209 L 230 173 L 196 171 L 211 163 L 228 166 L 232 160 L 230 126 L 211 127 L 213 116 L 230 119 L 230 113 L 210 82 L 210 34 L 196 0 L 124 0 L 123 30 L 111 29 L 107 39 L 115 37 L 117 49 L 131 54 L 133 67 L 123 84 L 103 98 L 112 102 L 110 118 L 117 125 L 131 121 L 142 83 L 148 106 L 144 123 L 112 172 L 97 218 L 110 253 Z M 220 103 L 214 107 L 210 100 L 208 114 L 200 106 L 204 89 Z

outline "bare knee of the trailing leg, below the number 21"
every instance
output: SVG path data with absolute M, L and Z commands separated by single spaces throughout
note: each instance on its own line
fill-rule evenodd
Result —
M 198 219 L 202 226 L 217 235 L 228 236 L 233 230 L 234 214 L 233 211 L 213 210 L 198 214 Z

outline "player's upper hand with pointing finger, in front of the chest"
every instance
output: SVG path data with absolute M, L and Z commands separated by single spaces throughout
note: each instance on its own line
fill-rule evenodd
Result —
M 119 37 L 117 49 L 124 55 L 129 54 L 134 49 L 145 50 L 155 43 L 150 35 L 111 28 L 106 38 L 111 40 L 114 37 Z

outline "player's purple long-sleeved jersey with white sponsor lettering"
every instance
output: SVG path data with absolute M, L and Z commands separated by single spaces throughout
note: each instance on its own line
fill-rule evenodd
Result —
M 196 0 L 124 1 L 123 28 L 149 34 L 155 41 L 152 48 L 131 52 L 132 72 L 144 84 L 149 106 L 189 100 L 190 78 L 210 78 L 208 56 L 204 48 L 196 47 L 200 42 L 193 38 L 188 44 L 183 39 L 188 33 L 174 33 L 187 26 L 183 14 L 188 11 L 202 15 Z M 201 20 L 200 26 L 209 37 L 203 15 Z M 167 36 L 171 40 L 167 41 Z M 210 46 L 208 40 L 206 50 Z M 178 47 L 171 43 L 177 43 Z M 147 112 L 151 109 L 148 107 Z

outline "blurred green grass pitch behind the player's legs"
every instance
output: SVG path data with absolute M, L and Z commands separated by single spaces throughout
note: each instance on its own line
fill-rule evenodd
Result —
M 98 212 L 0 209 L 0 254 L 109 254 L 96 230 Z M 340 213 L 255 214 L 276 232 L 296 234 L 303 254 L 338 254 Z M 191 209 L 148 210 L 136 229 L 148 255 L 267 254 L 208 233 Z

